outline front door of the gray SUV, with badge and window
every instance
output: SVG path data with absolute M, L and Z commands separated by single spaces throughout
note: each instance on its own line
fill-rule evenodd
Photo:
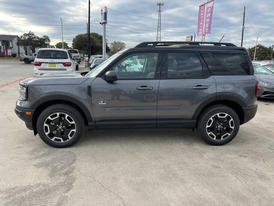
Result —
M 132 69 L 131 59 L 138 67 Z M 116 71 L 117 81 L 97 77 L 92 82 L 97 129 L 156 127 L 161 60 L 158 52 L 129 54 L 109 69 Z

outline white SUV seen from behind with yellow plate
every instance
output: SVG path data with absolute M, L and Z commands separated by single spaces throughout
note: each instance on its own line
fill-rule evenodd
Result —
M 66 49 L 39 49 L 34 60 L 34 75 L 76 71 L 76 64 Z

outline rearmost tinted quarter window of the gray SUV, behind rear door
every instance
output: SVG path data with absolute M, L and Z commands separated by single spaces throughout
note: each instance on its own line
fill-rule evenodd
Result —
M 201 52 L 212 75 L 249 75 L 243 54 L 210 54 Z

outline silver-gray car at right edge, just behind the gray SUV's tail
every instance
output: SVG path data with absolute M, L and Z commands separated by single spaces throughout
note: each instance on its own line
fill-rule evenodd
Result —
M 259 80 L 258 97 L 274 98 L 274 74 L 264 66 L 253 64 L 254 75 Z

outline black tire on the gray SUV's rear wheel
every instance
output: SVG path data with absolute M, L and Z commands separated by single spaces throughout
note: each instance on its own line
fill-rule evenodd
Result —
M 218 113 L 221 113 L 220 115 L 222 115 L 224 113 L 227 114 L 228 115 L 227 116 L 228 119 L 232 118 L 232 121 L 230 119 L 231 123 L 228 122 L 226 120 L 226 118 L 216 117 L 216 114 L 218 114 Z M 213 120 L 213 116 L 214 116 L 214 120 Z M 212 117 L 213 121 L 210 120 L 211 117 Z M 223 119 L 225 119 L 224 120 L 225 123 L 224 123 L 224 121 L 221 121 Z M 211 121 L 212 121 L 212 123 L 211 123 Z M 225 127 L 225 125 L 222 125 L 228 131 L 231 131 L 230 130 L 231 129 L 230 128 L 231 127 L 230 124 L 233 124 L 234 128 L 233 128 L 232 132 L 225 134 L 227 131 L 225 131 L 224 129 L 220 128 L 220 130 L 222 130 L 222 131 L 217 131 L 217 129 L 216 129 L 216 131 L 214 131 L 214 133 L 216 132 L 215 133 L 216 135 L 213 134 L 213 133 L 212 134 L 208 134 L 208 132 L 211 131 L 210 129 L 212 127 L 207 128 L 207 125 L 213 125 L 213 123 L 214 123 L 214 124 L 216 124 L 216 126 L 218 128 L 218 126 L 219 126 L 219 124 L 221 124 L 221 122 L 222 122 L 222 124 L 226 124 L 228 126 L 228 127 Z M 213 126 L 214 129 L 215 129 L 216 126 Z M 198 131 L 198 133 L 201 135 L 201 137 L 203 138 L 203 140 L 205 142 L 207 142 L 208 144 L 210 144 L 210 145 L 225 145 L 225 144 L 227 144 L 228 142 L 230 142 L 231 140 L 233 140 L 234 137 L 237 135 L 237 133 L 239 131 L 239 127 L 240 127 L 240 120 L 239 120 L 239 117 L 238 117 L 237 113 L 232 108 L 227 107 L 227 106 L 225 106 L 223 104 L 215 104 L 215 105 L 212 105 L 210 107 L 207 107 L 204 111 L 202 111 L 202 113 L 200 115 L 200 118 L 198 119 L 198 122 L 197 122 L 197 131 Z M 223 134 L 225 136 L 221 137 L 221 135 L 223 135 Z M 228 137 L 227 137 L 227 135 L 228 135 Z M 215 138 L 215 140 L 214 140 L 214 138 Z

